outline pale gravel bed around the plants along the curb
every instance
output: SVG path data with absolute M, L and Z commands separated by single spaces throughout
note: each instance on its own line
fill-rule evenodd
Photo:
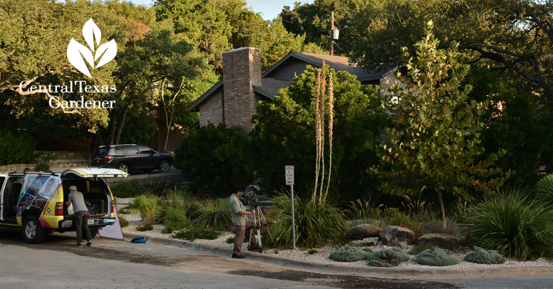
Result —
M 138 215 L 129 214 L 129 215 L 122 215 L 126 219 L 138 219 Z M 142 225 L 142 221 L 129 221 L 129 226 L 122 228 L 123 233 L 135 233 L 140 234 L 144 237 L 162 237 L 162 238 L 171 238 L 172 234 L 162 234 L 161 230 L 165 228 L 163 225 L 153 225 L 153 230 L 140 232 L 136 230 L 136 227 Z M 194 242 L 196 243 L 206 243 L 214 246 L 220 246 L 224 248 L 232 249 L 233 244 L 227 243 L 227 239 L 229 237 L 234 237 L 234 234 L 230 232 L 225 232 L 221 237 L 218 237 L 218 239 L 214 240 L 206 240 L 206 239 L 196 239 Z M 373 251 L 375 250 L 381 250 L 384 248 L 391 248 L 389 246 L 373 246 L 368 247 L 371 248 Z M 409 246 L 409 250 L 413 248 L 413 245 Z M 300 248 L 296 248 L 296 250 L 275 250 L 275 249 L 268 249 L 263 250 L 263 254 L 273 254 L 278 257 L 283 258 L 289 258 L 289 259 L 297 259 L 301 261 L 313 261 L 313 262 L 321 262 L 321 263 L 332 263 L 335 266 L 359 266 L 359 267 L 366 267 L 366 261 L 357 261 L 357 262 L 338 262 L 338 261 L 332 261 L 328 259 L 328 255 L 330 255 L 330 252 L 333 250 L 337 250 L 338 248 L 332 248 L 331 246 L 325 246 L 323 248 L 316 248 L 317 253 L 310 255 L 307 250 L 303 250 Z M 244 243 L 243 250 L 247 250 L 247 243 Z M 407 250 L 407 251 L 409 251 Z M 460 259 L 460 263 L 458 265 L 453 266 L 447 266 L 447 268 L 510 268 L 510 267 L 531 267 L 531 266 L 553 266 L 553 260 L 546 260 L 546 259 L 538 259 L 536 261 L 518 261 L 518 260 L 507 260 L 503 264 L 478 264 L 478 263 L 470 263 L 463 260 L 463 257 L 465 257 L 465 254 L 462 252 L 450 252 L 451 255 L 457 257 Z M 426 266 L 426 265 L 420 265 L 418 263 L 413 262 L 413 259 L 415 259 L 415 256 L 411 256 L 411 261 L 406 261 L 404 263 L 401 263 L 397 268 L 437 268 L 434 266 Z

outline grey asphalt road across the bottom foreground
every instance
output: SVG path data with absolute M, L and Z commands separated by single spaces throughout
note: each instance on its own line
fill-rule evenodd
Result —
M 27 244 L 0 230 L 0 288 L 553 288 L 553 277 L 407 280 L 332 275 L 211 252 L 75 233 Z

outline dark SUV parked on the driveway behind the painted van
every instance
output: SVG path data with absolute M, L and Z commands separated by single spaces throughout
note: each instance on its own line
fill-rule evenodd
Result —
M 158 169 L 167 172 L 173 163 L 173 157 L 167 152 L 156 152 L 147 146 L 124 144 L 114 146 L 100 146 L 93 155 L 92 166 L 118 168 L 123 172 L 131 170 Z

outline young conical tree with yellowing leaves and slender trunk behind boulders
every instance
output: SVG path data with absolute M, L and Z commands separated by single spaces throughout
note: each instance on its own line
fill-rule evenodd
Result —
M 415 44 L 416 56 L 403 49 L 408 77 L 406 90 L 395 87 L 398 101 L 388 104 L 397 126 L 388 129 L 388 144 L 380 152 L 382 168 L 373 168 L 391 193 L 413 193 L 427 186 L 438 195 L 444 228 L 443 195 L 469 199 L 471 190 L 501 186 L 503 174 L 494 168 L 501 152 L 482 155 L 476 101 L 467 103 L 471 86 L 462 86 L 469 66 L 455 43 L 438 49 L 430 21 L 427 37 Z M 398 75 L 400 77 L 400 75 Z M 507 172 L 508 175 L 508 172 Z

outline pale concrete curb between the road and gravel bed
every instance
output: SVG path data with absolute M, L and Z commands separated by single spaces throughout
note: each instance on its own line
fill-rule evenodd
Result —
M 145 237 L 148 242 L 162 245 L 187 248 L 189 250 L 200 250 L 212 252 L 223 257 L 232 255 L 232 248 L 223 248 L 205 243 L 195 243 L 180 239 L 169 239 L 160 237 L 146 237 L 136 233 L 124 233 L 126 239 L 134 237 Z M 512 268 L 378 268 L 378 267 L 357 267 L 346 264 L 332 264 L 308 262 L 293 259 L 285 259 L 268 254 L 254 252 L 242 252 L 248 260 L 272 263 L 279 266 L 289 266 L 294 269 L 321 270 L 332 272 L 332 274 L 355 274 L 365 277 L 380 278 L 474 278 L 474 277 L 549 277 L 553 276 L 553 266 L 534 267 L 512 267 Z

